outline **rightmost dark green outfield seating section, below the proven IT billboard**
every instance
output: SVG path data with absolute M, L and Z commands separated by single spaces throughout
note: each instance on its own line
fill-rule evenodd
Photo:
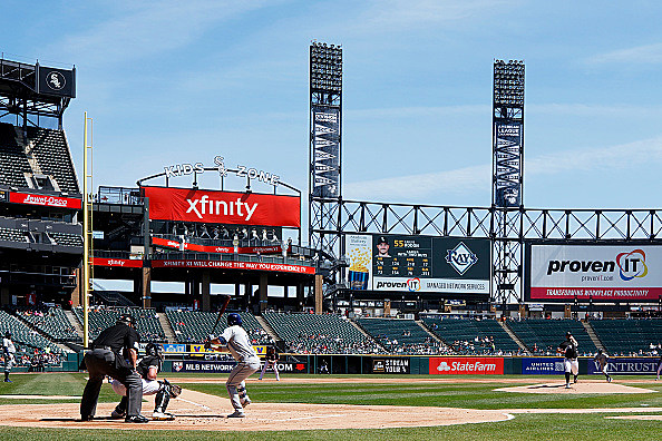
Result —
M 662 343 L 662 320 L 596 320 L 590 322 L 610 355 L 639 354 Z

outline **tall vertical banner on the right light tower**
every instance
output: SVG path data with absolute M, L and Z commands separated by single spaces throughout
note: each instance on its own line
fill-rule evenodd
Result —
M 519 169 L 524 125 L 519 121 L 495 122 L 495 204 L 498 207 L 518 207 L 522 204 Z

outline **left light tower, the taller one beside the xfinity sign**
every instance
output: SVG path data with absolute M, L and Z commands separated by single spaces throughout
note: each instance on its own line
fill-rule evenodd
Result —
M 335 131 L 333 137 L 319 136 L 331 125 L 318 124 L 317 114 L 335 118 L 331 127 Z M 313 41 L 310 46 L 309 246 L 330 255 L 340 252 L 335 246 L 341 231 L 334 226 L 340 223 L 335 215 L 342 200 L 341 121 L 342 49 Z M 327 231 L 333 233 L 318 233 Z

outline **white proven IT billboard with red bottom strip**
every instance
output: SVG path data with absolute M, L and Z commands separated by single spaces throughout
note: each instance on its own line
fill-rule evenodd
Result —
M 538 245 L 527 247 L 529 301 L 658 302 L 662 246 Z

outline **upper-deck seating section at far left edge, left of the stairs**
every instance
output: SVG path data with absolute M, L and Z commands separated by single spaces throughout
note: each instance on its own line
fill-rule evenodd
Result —
M 0 185 L 26 188 L 25 173 L 32 173 L 32 168 L 16 137 L 16 128 L 11 124 L 0 122 Z

